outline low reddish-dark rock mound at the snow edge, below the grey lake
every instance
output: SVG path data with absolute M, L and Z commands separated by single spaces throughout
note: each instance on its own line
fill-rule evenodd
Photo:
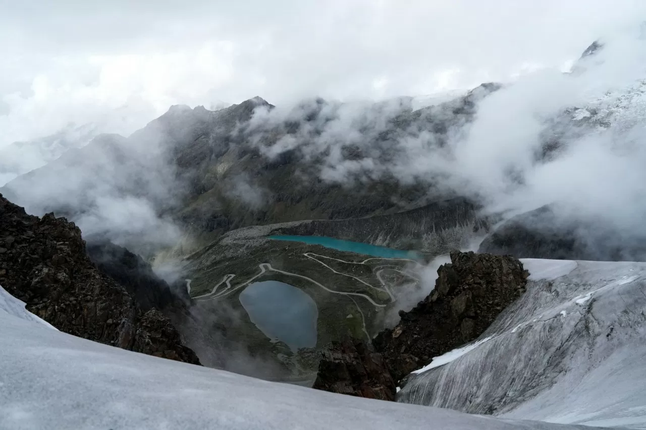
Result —
M 395 400 L 395 380 L 371 345 L 346 339 L 332 342 L 318 365 L 313 388 L 351 396 Z

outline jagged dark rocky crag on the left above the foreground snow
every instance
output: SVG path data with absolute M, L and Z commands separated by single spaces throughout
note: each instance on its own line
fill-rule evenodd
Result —
M 156 311 L 142 315 L 130 294 L 94 267 L 74 223 L 30 216 L 1 195 L 0 285 L 65 333 L 199 364 L 169 320 Z

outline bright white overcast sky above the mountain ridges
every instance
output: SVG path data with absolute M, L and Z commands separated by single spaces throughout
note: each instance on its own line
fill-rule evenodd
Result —
M 380 99 L 562 67 L 642 0 L 0 0 L 0 147 L 172 104 Z

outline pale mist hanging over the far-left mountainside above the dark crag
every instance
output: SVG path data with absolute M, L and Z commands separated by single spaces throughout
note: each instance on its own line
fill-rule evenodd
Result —
M 30 214 L 54 212 L 74 221 L 85 240 L 109 240 L 147 258 L 180 240 L 180 228 L 165 213 L 179 204 L 185 184 L 158 123 L 136 139 L 100 134 L 71 146 L 0 192 Z

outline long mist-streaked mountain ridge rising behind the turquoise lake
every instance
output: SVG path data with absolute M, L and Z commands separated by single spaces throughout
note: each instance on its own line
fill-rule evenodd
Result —
M 316 99 L 286 111 L 260 97 L 217 111 L 176 106 L 127 139 L 101 136 L 1 192 L 30 213 L 67 216 L 87 234 L 109 231 L 120 245 L 175 242 L 165 221 L 204 245 L 249 225 L 392 214 L 452 195 L 422 179 L 373 176 L 366 163 L 408 163 L 402 145 L 419 136 L 442 147 L 497 88 L 483 85 L 419 110 L 404 101 Z M 348 132 L 330 134 L 339 127 Z M 350 176 L 335 176 L 337 167 Z M 130 227 L 144 216 L 143 233 Z

